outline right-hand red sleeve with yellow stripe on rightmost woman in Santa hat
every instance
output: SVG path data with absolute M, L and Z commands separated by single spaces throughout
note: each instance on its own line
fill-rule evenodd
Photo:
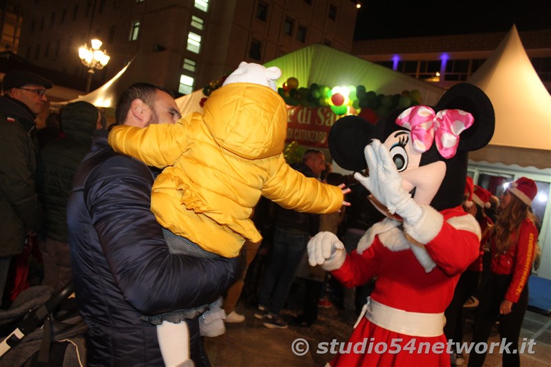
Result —
M 512 280 L 505 294 L 505 299 L 510 302 L 518 302 L 521 292 L 528 282 L 530 271 L 532 271 L 532 262 L 534 261 L 534 251 L 538 239 L 536 226 L 530 220 L 524 220 L 519 230 L 519 240 L 517 241 L 515 258 L 512 269 Z

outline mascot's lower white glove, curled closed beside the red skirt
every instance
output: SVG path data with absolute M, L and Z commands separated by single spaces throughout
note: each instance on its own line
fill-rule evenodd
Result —
M 320 232 L 308 242 L 308 262 L 326 271 L 340 269 L 346 259 L 344 244 L 331 232 Z

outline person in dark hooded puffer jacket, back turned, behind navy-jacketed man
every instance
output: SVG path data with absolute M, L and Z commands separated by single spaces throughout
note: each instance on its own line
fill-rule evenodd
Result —
M 44 227 L 39 248 L 44 264 L 42 285 L 59 290 L 71 279 L 71 258 L 67 243 L 67 199 L 74 172 L 92 147 L 92 133 L 100 116 L 85 101 L 69 103 L 61 111 L 65 137 L 52 140 L 39 153 L 37 191 L 43 207 Z

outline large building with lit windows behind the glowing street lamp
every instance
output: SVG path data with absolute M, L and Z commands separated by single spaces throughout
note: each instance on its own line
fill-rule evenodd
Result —
M 103 41 L 111 56 L 94 87 L 134 56 L 147 60 L 136 81 L 188 94 L 235 69 L 312 43 L 351 52 L 351 0 L 19 0 L 18 54 L 35 65 L 85 78 L 78 49 Z M 85 85 L 81 86 L 84 90 Z

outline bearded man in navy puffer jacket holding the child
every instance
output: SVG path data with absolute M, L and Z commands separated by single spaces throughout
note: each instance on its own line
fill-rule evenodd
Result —
M 169 92 L 138 83 L 123 92 L 116 116 L 144 127 L 180 113 Z M 89 328 L 87 366 L 163 366 L 156 326 L 140 316 L 213 302 L 235 281 L 238 258 L 171 254 L 149 209 L 152 172 L 115 153 L 107 132 L 97 134 L 67 204 L 76 300 Z M 186 322 L 192 361 L 209 366 L 198 319 Z

